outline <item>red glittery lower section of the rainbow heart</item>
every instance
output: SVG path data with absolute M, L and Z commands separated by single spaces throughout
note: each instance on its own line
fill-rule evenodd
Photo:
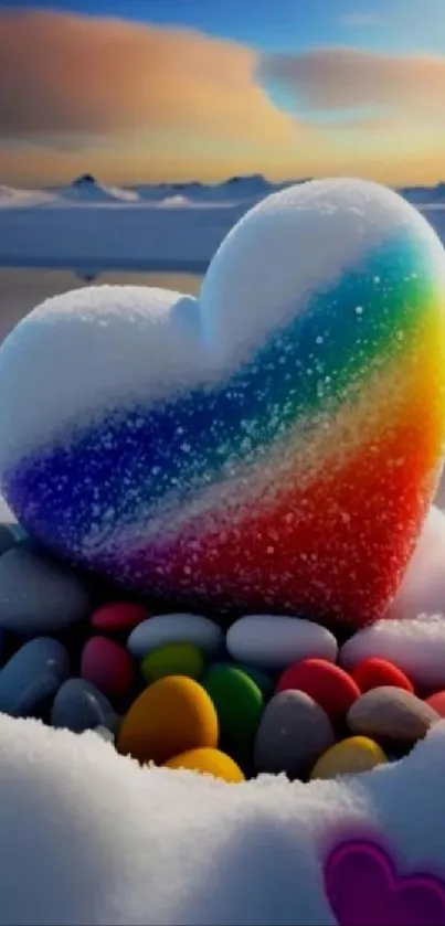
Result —
M 321 472 L 304 489 L 286 487 L 272 507 L 259 498 L 221 521 L 215 511 L 211 530 L 206 518 L 190 520 L 169 546 L 138 552 L 147 584 L 198 590 L 216 606 L 236 602 L 246 610 L 331 616 L 356 627 L 382 617 L 431 493 L 437 451 L 423 425 L 395 422 L 341 469 Z

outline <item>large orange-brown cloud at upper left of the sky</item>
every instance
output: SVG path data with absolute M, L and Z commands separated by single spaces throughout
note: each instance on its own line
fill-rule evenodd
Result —
M 145 130 L 288 143 L 296 119 L 255 82 L 256 53 L 199 32 L 50 11 L 0 13 L 0 137 Z

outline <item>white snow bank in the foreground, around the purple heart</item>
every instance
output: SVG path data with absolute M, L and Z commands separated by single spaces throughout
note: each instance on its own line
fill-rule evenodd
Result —
M 333 926 L 321 865 L 341 838 L 445 871 L 444 775 L 445 723 L 352 779 L 226 785 L 1 715 L 0 924 Z

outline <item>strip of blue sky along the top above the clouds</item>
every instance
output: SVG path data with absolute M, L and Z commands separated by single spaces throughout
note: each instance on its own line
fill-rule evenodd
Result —
M 1 7 L 191 26 L 266 51 L 327 44 L 445 53 L 445 0 L 0 0 Z

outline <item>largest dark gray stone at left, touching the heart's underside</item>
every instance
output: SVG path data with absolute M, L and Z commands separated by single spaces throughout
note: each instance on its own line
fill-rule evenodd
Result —
M 0 627 L 19 634 L 46 634 L 87 617 L 89 595 L 70 570 L 27 545 L 0 558 Z

